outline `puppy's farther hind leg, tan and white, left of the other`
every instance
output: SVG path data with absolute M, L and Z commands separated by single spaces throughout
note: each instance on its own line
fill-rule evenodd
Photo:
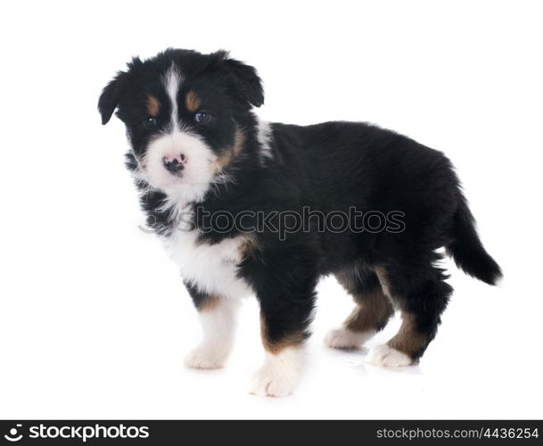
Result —
M 334 349 L 358 349 L 383 329 L 394 310 L 373 271 L 350 268 L 337 273 L 335 277 L 352 295 L 357 306 L 341 328 L 328 332 L 325 344 Z

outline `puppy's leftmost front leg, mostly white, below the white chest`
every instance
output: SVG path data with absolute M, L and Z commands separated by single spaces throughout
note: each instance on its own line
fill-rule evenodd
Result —
M 185 358 L 189 368 L 222 368 L 234 344 L 239 301 L 200 293 L 186 284 L 200 316 L 202 343 Z

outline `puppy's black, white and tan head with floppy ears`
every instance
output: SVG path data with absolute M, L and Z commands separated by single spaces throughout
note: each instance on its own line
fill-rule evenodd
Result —
M 169 49 L 129 62 L 103 89 L 98 110 L 103 124 L 118 110 L 140 177 L 194 199 L 243 151 L 243 117 L 263 102 L 256 70 L 226 52 Z

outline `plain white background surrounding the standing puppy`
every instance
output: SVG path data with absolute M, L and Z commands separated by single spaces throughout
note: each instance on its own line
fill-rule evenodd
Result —
M 0 417 L 543 417 L 538 2 L 3 8 Z M 96 111 L 131 56 L 168 46 L 226 48 L 255 65 L 264 119 L 368 120 L 447 153 L 503 286 L 448 262 L 456 293 L 418 367 L 384 370 L 364 364 L 366 351 L 326 350 L 326 330 L 352 305 L 328 278 L 292 397 L 246 393 L 262 359 L 253 299 L 228 367 L 185 369 L 196 312 L 176 266 L 138 228 L 124 128 L 102 127 Z

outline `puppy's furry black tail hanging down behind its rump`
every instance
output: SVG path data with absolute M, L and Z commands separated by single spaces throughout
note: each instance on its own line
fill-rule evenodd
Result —
M 454 217 L 454 241 L 447 251 L 466 274 L 489 285 L 496 285 L 502 270 L 481 244 L 475 228 L 475 219 L 465 196 L 460 193 L 460 202 Z

